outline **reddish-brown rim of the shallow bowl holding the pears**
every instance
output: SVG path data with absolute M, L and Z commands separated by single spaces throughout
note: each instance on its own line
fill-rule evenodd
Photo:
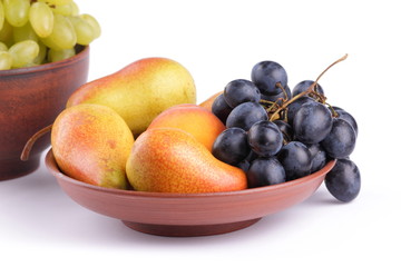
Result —
M 57 178 L 62 179 L 67 182 L 75 184 L 80 187 L 85 187 L 87 189 L 101 191 L 105 194 L 113 194 L 113 195 L 126 195 L 126 196 L 136 196 L 136 197 L 145 197 L 145 198 L 205 198 L 205 197 L 225 197 L 225 196 L 233 196 L 233 195 L 253 195 L 258 192 L 268 192 L 268 191 L 275 191 L 275 190 L 282 190 L 284 188 L 288 188 L 292 186 L 296 186 L 299 184 L 309 182 L 311 180 L 320 178 L 323 174 L 329 172 L 335 165 L 336 160 L 329 161 L 322 169 L 302 177 L 297 178 L 295 180 L 285 181 L 277 185 L 272 186 L 264 186 L 264 187 L 257 187 L 257 188 L 247 188 L 244 190 L 236 190 L 236 191 L 222 191 L 222 192 L 190 192 L 190 194 L 180 194 L 180 192 L 149 192 L 149 191 L 135 191 L 135 190 L 125 190 L 125 189 L 115 189 L 115 188 L 106 188 L 106 187 L 99 187 L 95 185 L 90 185 L 77 179 L 74 179 L 67 175 L 65 175 L 59 167 L 57 166 L 57 162 L 55 160 L 55 156 L 52 154 L 52 150 L 50 149 L 48 154 L 46 155 L 46 166 L 47 168 L 57 176 Z

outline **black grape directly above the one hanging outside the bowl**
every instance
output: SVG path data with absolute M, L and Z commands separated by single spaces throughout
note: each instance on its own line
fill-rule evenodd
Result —
M 352 126 L 339 118 L 333 118 L 333 127 L 321 142 L 324 150 L 332 158 L 346 158 L 355 148 L 356 135 Z

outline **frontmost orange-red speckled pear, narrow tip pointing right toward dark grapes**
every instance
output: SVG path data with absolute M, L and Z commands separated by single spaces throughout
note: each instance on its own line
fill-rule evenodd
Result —
M 245 172 L 219 161 L 192 135 L 175 128 L 146 130 L 127 160 L 130 185 L 140 191 L 217 192 L 247 187 Z

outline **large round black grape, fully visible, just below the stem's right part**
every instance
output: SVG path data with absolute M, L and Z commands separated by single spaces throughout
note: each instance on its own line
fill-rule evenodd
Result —
M 295 138 L 304 144 L 317 144 L 330 134 L 332 123 L 331 111 L 324 105 L 304 103 L 293 119 Z

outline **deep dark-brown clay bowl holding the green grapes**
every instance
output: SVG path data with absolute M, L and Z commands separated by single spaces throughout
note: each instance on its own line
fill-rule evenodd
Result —
M 87 81 L 88 69 L 89 47 L 77 47 L 77 55 L 66 60 L 0 71 L 0 180 L 39 167 L 50 135 L 35 144 L 28 161 L 20 160 L 23 146 L 53 122 L 72 91 Z

